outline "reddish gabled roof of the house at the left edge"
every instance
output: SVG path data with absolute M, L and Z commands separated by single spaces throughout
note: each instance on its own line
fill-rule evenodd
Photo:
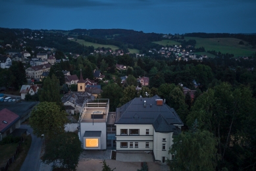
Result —
M 20 116 L 18 116 L 18 114 L 15 114 L 11 110 L 0 110 L 0 132 L 3 134 L 19 119 Z

